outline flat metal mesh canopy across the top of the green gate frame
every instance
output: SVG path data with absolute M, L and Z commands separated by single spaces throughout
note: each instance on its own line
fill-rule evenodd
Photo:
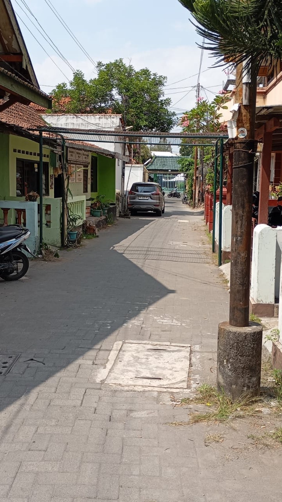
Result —
M 61 135 L 65 139 L 75 141 L 85 141 L 93 143 L 127 143 L 141 145 L 214 145 L 219 138 L 227 139 L 227 135 L 218 133 L 159 133 L 159 132 L 133 132 L 133 131 L 106 131 L 97 129 L 66 129 L 58 127 L 46 127 L 32 129 L 31 131 L 42 131 Z M 185 141 L 183 141 L 185 140 Z M 207 140 L 209 140 L 207 142 Z

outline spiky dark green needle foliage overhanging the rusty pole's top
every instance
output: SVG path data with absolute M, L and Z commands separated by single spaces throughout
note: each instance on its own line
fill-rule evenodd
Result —
M 196 21 L 204 48 L 216 58 L 250 64 L 257 73 L 282 56 L 280 0 L 179 0 Z

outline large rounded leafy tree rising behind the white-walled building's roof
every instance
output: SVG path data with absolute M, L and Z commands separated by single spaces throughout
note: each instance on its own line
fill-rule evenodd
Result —
M 76 71 L 69 84 L 53 90 L 52 113 L 120 113 L 134 131 L 170 131 L 176 115 L 164 97 L 167 78 L 148 68 L 135 70 L 122 59 L 97 63 L 97 77 L 87 81 Z

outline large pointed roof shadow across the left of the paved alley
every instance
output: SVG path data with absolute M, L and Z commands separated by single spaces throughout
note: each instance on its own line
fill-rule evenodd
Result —
M 26 279 L 0 282 L 0 352 L 22 353 L 0 376 L 0 410 L 59 371 L 64 376 L 76 359 L 173 292 L 112 248 L 147 224 L 120 221 L 84 248 L 63 252 L 59 262 L 32 263 Z

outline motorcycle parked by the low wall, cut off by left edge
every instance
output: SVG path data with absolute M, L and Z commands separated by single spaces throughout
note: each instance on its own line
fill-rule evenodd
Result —
M 0 277 L 5 281 L 18 281 L 28 272 L 29 259 L 21 249 L 35 256 L 25 243 L 30 234 L 21 225 L 0 227 Z

